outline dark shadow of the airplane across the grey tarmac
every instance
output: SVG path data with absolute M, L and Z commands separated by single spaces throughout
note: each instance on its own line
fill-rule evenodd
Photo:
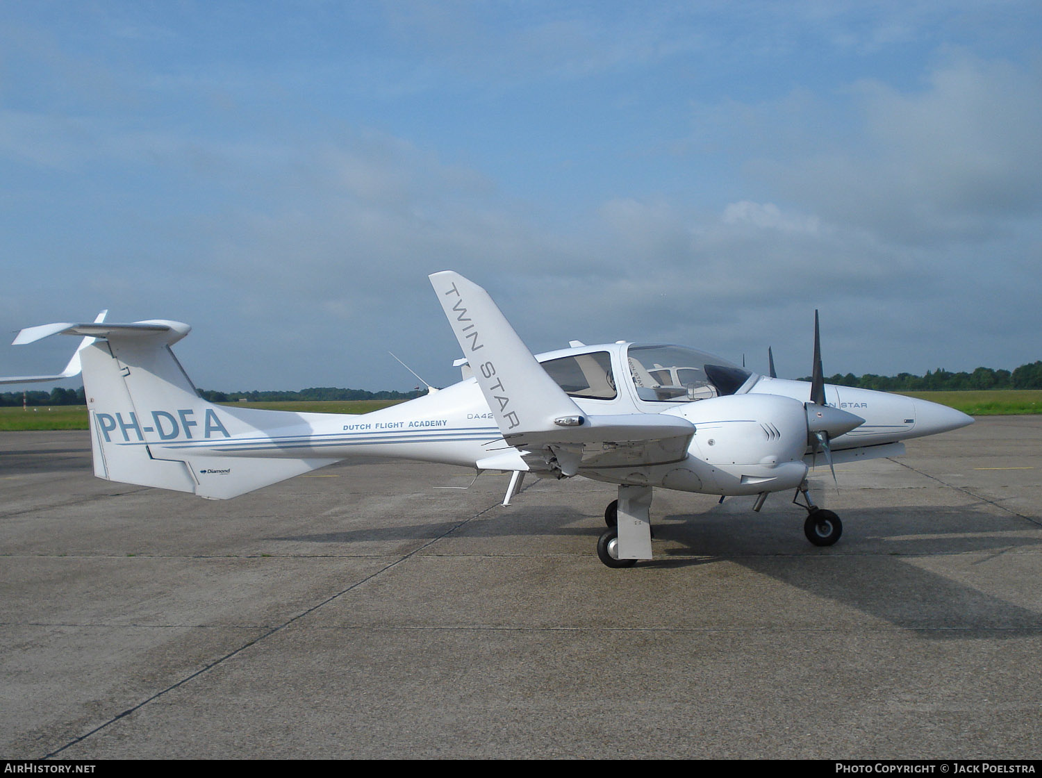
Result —
M 1042 613 L 978 588 L 970 580 L 978 564 L 1000 564 L 1006 554 L 1035 554 L 1037 536 L 1020 532 L 1015 517 L 996 516 L 987 503 L 860 508 L 845 511 L 847 536 L 837 546 L 817 548 L 802 534 L 802 513 L 772 516 L 724 511 L 673 513 L 653 523 L 656 559 L 631 570 L 613 571 L 619 585 L 641 569 L 680 570 L 729 562 L 807 593 L 854 608 L 929 639 L 1020 637 L 1042 629 Z M 270 537 L 329 544 L 404 542 L 469 536 L 503 537 L 539 533 L 582 536 L 593 544 L 601 531 L 595 518 L 565 505 L 541 505 L 473 520 L 358 527 L 340 532 Z M 932 572 L 936 557 L 945 574 Z M 574 563 L 573 556 L 562 563 Z M 933 567 L 938 567 L 935 564 Z M 994 569 L 992 569 L 994 570 Z M 956 580 L 959 575 L 967 580 Z M 1012 576 L 1014 572 L 1003 575 Z M 1034 580 L 1026 583 L 1035 586 Z M 694 595 L 693 595 L 694 596 Z M 1023 599 L 1037 599 L 1021 593 Z

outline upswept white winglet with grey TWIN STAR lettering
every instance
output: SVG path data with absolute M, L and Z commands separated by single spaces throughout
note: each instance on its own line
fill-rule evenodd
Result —
M 525 433 L 584 423 L 489 293 L 450 270 L 428 277 L 505 440 L 517 445 Z

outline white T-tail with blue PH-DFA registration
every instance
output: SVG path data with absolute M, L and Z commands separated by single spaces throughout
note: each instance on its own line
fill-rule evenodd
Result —
M 271 445 L 306 440 L 305 415 L 229 408 L 199 397 L 170 349 L 190 329 L 158 320 L 44 325 L 23 330 L 15 343 L 50 334 L 97 338 L 80 361 L 99 478 L 227 499 L 338 460 L 299 458 L 299 450 Z

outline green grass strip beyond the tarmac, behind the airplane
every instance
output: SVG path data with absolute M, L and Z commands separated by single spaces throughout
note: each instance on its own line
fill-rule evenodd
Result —
M 1015 416 L 1042 413 L 1042 390 L 994 390 L 990 392 L 909 392 L 909 397 L 948 405 L 970 416 Z M 297 410 L 309 413 L 368 413 L 394 405 L 393 400 L 328 402 L 243 402 L 235 407 Z M 0 408 L 0 432 L 16 430 L 86 429 L 86 408 L 57 405 L 28 408 Z

